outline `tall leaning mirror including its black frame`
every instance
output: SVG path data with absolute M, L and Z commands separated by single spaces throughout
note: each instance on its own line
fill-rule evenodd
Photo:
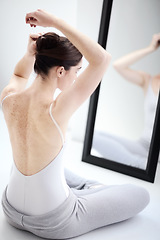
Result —
M 150 182 L 160 147 L 160 47 L 148 46 L 160 34 L 159 7 L 144 0 L 104 0 L 99 43 L 112 62 L 90 99 L 82 157 Z

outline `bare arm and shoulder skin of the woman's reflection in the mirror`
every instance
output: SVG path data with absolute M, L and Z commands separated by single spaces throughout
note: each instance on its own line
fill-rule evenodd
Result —
M 131 69 L 131 65 L 138 60 L 144 58 L 148 54 L 153 53 L 160 47 L 160 33 L 154 34 L 152 41 L 146 48 L 132 52 L 114 62 L 115 69 L 128 81 L 139 85 L 146 93 L 149 80 L 152 78 L 152 90 L 155 95 L 158 95 L 160 89 L 160 74 L 151 76 L 147 72 L 136 71 Z

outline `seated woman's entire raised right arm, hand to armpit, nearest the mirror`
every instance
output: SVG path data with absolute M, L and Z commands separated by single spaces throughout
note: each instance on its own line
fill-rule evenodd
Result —
M 63 91 L 58 104 L 64 114 L 70 115 L 88 98 L 100 83 L 110 62 L 110 54 L 98 43 L 70 26 L 64 20 L 38 9 L 26 15 L 26 23 L 31 27 L 54 27 L 61 31 L 88 61 L 87 68 L 79 75 L 75 83 Z M 63 107 L 64 106 L 64 107 Z M 66 108 L 67 106 L 67 108 Z

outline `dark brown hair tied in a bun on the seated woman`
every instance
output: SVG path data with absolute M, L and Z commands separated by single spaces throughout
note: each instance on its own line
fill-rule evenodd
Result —
M 48 32 L 37 39 L 35 58 L 35 72 L 47 75 L 55 66 L 63 66 L 65 70 L 76 66 L 82 54 L 66 37 Z

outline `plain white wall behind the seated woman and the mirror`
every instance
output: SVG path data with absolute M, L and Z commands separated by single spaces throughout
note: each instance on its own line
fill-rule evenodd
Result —
M 41 27 L 30 28 L 24 21 L 25 14 L 37 8 L 45 9 L 65 19 L 95 41 L 98 40 L 102 0 L 1 0 L 0 91 L 8 83 L 15 64 L 25 53 L 29 33 L 44 31 Z M 86 62 L 83 68 L 85 66 Z M 29 83 L 33 78 L 34 74 L 31 75 Z M 83 141 L 88 102 L 77 110 L 70 121 L 69 129 L 73 139 Z

